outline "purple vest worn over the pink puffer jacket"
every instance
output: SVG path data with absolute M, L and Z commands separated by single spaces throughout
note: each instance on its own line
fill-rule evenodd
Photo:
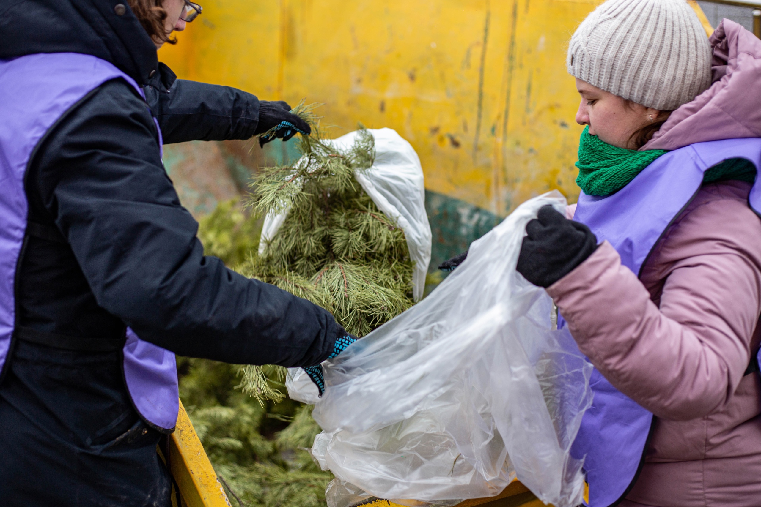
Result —
M 639 275 L 661 234 L 693 200 L 703 173 L 730 158 L 761 167 L 761 138 L 691 144 L 659 157 L 629 185 L 607 197 L 581 194 L 574 220 L 587 224 L 597 239 L 607 239 L 621 264 Z M 750 206 L 761 211 L 761 184 L 750 192 Z M 610 385 L 594 369 L 594 398 L 581 420 L 572 455 L 584 458 L 591 507 L 616 504 L 633 485 L 644 460 L 653 415 Z

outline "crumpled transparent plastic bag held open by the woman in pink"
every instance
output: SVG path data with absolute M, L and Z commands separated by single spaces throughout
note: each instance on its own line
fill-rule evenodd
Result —
M 336 475 L 330 507 L 368 496 L 454 505 L 516 475 L 543 502 L 581 503 L 569 449 L 592 367 L 553 329 L 546 292 L 515 271 L 526 223 L 545 204 L 565 211 L 559 192 L 521 204 L 428 297 L 323 363 L 312 455 Z

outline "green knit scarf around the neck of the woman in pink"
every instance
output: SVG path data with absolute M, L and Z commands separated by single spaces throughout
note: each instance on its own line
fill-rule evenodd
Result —
M 581 132 L 578 144 L 578 178 L 576 184 L 587 195 L 611 195 L 629 184 L 645 167 L 667 153 L 666 150 L 627 150 L 600 141 L 589 133 L 589 126 Z M 750 160 L 733 158 L 705 171 L 704 183 L 726 179 L 753 182 L 756 166 Z

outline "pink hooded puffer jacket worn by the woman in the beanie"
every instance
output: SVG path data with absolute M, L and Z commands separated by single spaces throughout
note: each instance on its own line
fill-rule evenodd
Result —
M 761 41 L 724 20 L 711 42 L 718 81 L 649 147 L 761 137 Z M 640 279 L 603 242 L 547 290 L 594 366 L 655 414 L 622 507 L 761 505 L 761 377 L 744 375 L 761 344 L 761 219 L 750 187 L 705 185 Z

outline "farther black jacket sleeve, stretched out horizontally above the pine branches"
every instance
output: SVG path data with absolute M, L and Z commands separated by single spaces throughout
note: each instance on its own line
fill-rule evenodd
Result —
M 143 91 L 164 144 L 249 139 L 259 123 L 259 99 L 237 88 L 177 79 L 167 91 Z

